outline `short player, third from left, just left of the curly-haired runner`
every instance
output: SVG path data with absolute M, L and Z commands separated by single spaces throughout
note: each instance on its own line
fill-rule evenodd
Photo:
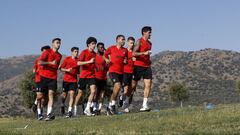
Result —
M 64 72 L 63 77 L 63 92 L 62 92 L 62 105 L 61 105 L 61 112 L 62 114 L 65 113 L 65 100 L 69 93 L 69 105 L 68 105 L 68 113 L 66 115 L 67 118 L 71 118 L 72 113 L 72 106 L 74 101 L 74 94 L 77 90 L 77 74 L 79 72 L 79 66 L 77 65 L 78 62 L 78 47 L 71 48 L 71 56 L 68 56 L 64 59 L 63 63 L 60 66 L 60 70 Z

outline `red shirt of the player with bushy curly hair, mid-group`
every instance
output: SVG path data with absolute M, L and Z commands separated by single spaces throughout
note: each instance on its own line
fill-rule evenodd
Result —
M 95 57 L 94 51 L 90 52 L 89 49 L 85 49 L 79 55 L 79 61 L 89 61 Z M 95 78 L 95 63 L 82 65 L 80 78 Z

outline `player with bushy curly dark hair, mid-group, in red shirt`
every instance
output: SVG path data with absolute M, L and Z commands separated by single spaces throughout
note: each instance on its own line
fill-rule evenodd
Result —
M 81 66 L 80 78 L 78 81 L 78 95 L 76 96 L 74 105 L 77 106 L 78 101 L 80 100 L 83 90 L 86 89 L 86 86 L 90 86 L 90 95 L 88 97 L 87 106 L 84 110 L 84 113 L 87 116 L 92 116 L 90 111 L 90 106 L 92 104 L 94 95 L 96 93 L 96 82 L 95 82 L 95 57 L 96 53 L 94 52 L 97 39 L 94 37 L 89 37 L 87 39 L 87 49 L 83 50 L 79 56 L 78 65 Z M 87 92 L 86 92 L 87 93 Z M 77 107 L 75 108 L 75 112 Z

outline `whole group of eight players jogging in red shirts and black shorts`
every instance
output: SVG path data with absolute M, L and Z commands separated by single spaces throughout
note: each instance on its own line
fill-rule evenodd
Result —
M 136 90 L 138 81 L 143 78 L 144 97 L 140 111 L 150 111 L 148 98 L 152 85 L 151 47 L 149 41 L 152 28 L 144 26 L 142 37 L 135 41 L 133 37 L 117 35 L 116 43 L 105 49 L 104 43 L 97 42 L 95 37 L 86 40 L 86 49 L 79 51 L 71 48 L 71 55 L 62 62 L 59 53 L 61 39 L 54 38 L 52 46 L 43 46 L 41 55 L 36 59 L 33 72 L 36 82 L 37 119 L 43 120 L 43 106 L 47 101 L 45 120 L 55 119 L 53 113 L 54 95 L 57 92 L 58 70 L 64 73 L 61 94 L 61 112 L 65 113 L 65 100 L 69 96 L 66 117 L 76 116 L 77 105 L 88 94 L 84 114 L 94 116 L 100 113 L 106 93 L 107 78 L 113 83 L 113 90 L 107 106 L 107 114 L 117 114 L 118 95 L 122 89 L 121 108 L 129 112 L 129 100 Z M 95 47 L 97 48 L 95 52 Z M 89 90 L 89 91 L 86 91 Z M 46 97 L 48 100 L 46 100 Z

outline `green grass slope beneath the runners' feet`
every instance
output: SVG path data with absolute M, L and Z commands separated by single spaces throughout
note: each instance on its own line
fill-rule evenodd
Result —
M 26 129 L 23 129 L 29 125 Z M 97 116 L 46 122 L 0 119 L 0 134 L 240 134 L 240 104 L 164 109 L 159 112 Z

